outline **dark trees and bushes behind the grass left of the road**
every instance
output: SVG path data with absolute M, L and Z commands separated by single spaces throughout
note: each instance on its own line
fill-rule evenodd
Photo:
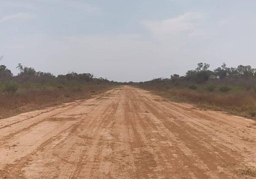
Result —
M 0 56 L 1 59 L 2 56 Z M 65 88 L 65 90 L 72 88 L 73 91 L 69 91 L 69 93 L 74 93 L 76 90 L 82 91 L 81 86 L 100 86 L 99 84 L 109 86 L 119 84 L 118 82 L 109 81 L 106 78 L 96 78 L 90 73 L 71 72 L 65 75 L 55 76 L 49 72 L 36 71 L 33 67 L 23 66 L 21 63 L 16 68 L 19 70 L 19 73 L 13 75 L 7 66 L 0 65 L 0 95 L 8 94 L 8 96 L 13 96 L 17 93 L 18 89 L 29 91 L 29 89 L 35 90 L 37 88 L 43 89 L 40 92 L 41 94 L 43 91 L 51 91 L 52 87 L 54 89 Z

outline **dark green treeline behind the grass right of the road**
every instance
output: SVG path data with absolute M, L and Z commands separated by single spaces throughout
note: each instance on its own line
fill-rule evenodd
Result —
M 178 74 L 171 75 L 170 78 L 155 78 L 144 83 L 172 83 L 172 84 L 202 84 L 220 83 L 240 85 L 251 88 L 256 85 L 256 68 L 250 65 L 238 65 L 237 67 L 227 67 L 223 63 L 214 70 L 209 70 L 210 64 L 198 63 L 194 70 L 188 70 L 184 76 Z

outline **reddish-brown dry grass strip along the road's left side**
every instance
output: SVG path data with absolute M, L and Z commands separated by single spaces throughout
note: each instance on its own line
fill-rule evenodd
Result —
M 73 85 L 62 89 L 50 85 L 43 88 L 21 86 L 14 96 L 0 92 L 0 119 L 77 99 L 88 99 L 111 87 L 113 85 L 109 84 Z

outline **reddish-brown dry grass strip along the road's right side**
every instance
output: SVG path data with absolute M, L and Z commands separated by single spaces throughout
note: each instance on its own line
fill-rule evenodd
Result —
M 226 111 L 232 115 L 256 119 L 256 93 L 254 91 L 234 90 L 223 93 L 219 91 L 210 92 L 203 89 L 178 89 L 153 85 L 143 86 L 143 88 L 154 91 L 157 95 L 171 101 L 193 103 L 201 109 Z

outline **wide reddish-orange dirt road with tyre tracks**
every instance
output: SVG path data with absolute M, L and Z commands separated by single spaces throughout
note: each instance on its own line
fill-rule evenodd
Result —
M 256 125 L 121 87 L 0 120 L 0 178 L 253 178 Z

